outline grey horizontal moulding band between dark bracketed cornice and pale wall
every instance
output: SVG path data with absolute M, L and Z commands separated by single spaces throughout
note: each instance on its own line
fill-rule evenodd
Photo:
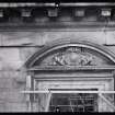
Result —
M 10 27 L 10 30 L 9 30 Z M 0 31 L 115 31 L 115 22 L 1 23 Z

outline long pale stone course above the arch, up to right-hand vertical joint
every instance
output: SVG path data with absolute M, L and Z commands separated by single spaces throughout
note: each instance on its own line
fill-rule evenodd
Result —
M 97 44 L 105 43 L 105 33 L 102 32 L 3 32 L 1 33 L 3 46 L 21 46 L 21 45 L 45 45 L 59 38 L 77 38 L 83 41 L 91 41 Z

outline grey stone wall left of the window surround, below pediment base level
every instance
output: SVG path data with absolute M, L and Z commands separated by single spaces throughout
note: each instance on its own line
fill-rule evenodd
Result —
M 25 96 L 20 93 L 25 85 L 16 81 L 19 77 L 19 71 L 9 68 L 0 72 L 0 112 L 25 111 Z

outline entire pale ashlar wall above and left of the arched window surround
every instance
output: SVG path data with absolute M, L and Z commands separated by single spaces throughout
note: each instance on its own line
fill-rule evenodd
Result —
M 93 31 L 92 31 L 93 30 Z M 99 45 L 107 44 L 115 54 L 115 31 L 101 28 L 43 28 L 0 32 L 0 112 L 27 112 L 25 95 L 20 91 L 25 89 L 26 72 L 21 72 L 24 62 L 46 43 L 76 38 L 89 41 Z

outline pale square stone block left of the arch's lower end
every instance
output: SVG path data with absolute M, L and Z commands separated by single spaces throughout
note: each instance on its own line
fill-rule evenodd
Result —
M 22 66 L 18 48 L 0 48 L 1 68 L 18 69 Z

